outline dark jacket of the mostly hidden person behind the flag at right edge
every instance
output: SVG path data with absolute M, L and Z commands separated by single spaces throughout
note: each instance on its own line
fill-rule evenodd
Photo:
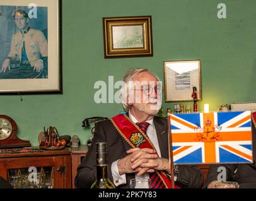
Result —
M 252 126 L 253 164 L 225 164 L 211 165 L 207 173 L 206 187 L 214 180 L 218 180 L 218 167 L 226 168 L 226 181 L 238 182 L 240 188 L 256 188 L 256 131 Z

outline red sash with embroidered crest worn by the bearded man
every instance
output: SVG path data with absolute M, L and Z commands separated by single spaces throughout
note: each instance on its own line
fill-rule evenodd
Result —
M 113 126 L 115 126 L 115 129 L 117 129 L 120 136 L 122 136 L 122 138 L 124 138 L 132 148 L 138 147 L 141 149 L 149 148 L 155 150 L 148 136 L 144 134 L 143 131 L 141 131 L 141 129 L 139 129 L 139 127 L 134 124 L 127 115 L 119 114 L 112 117 L 110 120 L 112 121 Z M 156 170 L 156 173 L 166 188 L 172 188 L 170 179 L 165 175 L 163 171 Z

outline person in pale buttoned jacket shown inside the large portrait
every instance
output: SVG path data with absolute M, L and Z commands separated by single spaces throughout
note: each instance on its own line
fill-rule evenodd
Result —
M 48 46 L 44 33 L 28 26 L 28 14 L 23 10 L 13 13 L 19 31 L 11 40 L 11 51 L 0 70 L 0 79 L 45 78 Z

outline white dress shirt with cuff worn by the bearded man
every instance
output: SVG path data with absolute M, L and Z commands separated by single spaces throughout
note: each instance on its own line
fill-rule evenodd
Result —
M 131 112 L 129 111 L 129 117 L 131 119 L 132 122 L 134 122 L 134 124 L 136 124 L 137 119 L 132 116 Z M 146 121 L 149 123 L 148 129 L 147 129 L 147 135 L 148 138 L 150 139 L 151 143 L 153 143 L 154 148 L 156 149 L 156 152 L 158 153 L 158 156 L 161 157 L 161 152 L 160 152 L 160 147 L 158 144 L 158 138 L 156 135 L 156 128 L 154 128 L 154 122 L 153 122 L 153 118 L 149 121 Z M 122 175 L 119 175 L 119 170 L 117 168 L 117 163 L 119 160 L 114 161 L 111 165 L 111 171 L 112 171 L 112 176 L 113 176 L 113 183 L 115 184 L 116 187 L 118 187 L 119 185 L 125 184 L 126 183 L 126 177 L 125 177 L 125 173 Z M 144 173 L 141 176 L 137 176 L 136 174 L 136 179 L 147 179 L 149 178 L 148 173 Z M 149 185 L 140 185 L 140 186 L 136 186 L 136 188 L 149 188 Z

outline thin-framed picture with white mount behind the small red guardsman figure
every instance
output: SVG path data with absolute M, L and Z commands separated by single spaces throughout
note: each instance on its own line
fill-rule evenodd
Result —
M 165 61 L 165 101 L 202 100 L 201 60 Z

